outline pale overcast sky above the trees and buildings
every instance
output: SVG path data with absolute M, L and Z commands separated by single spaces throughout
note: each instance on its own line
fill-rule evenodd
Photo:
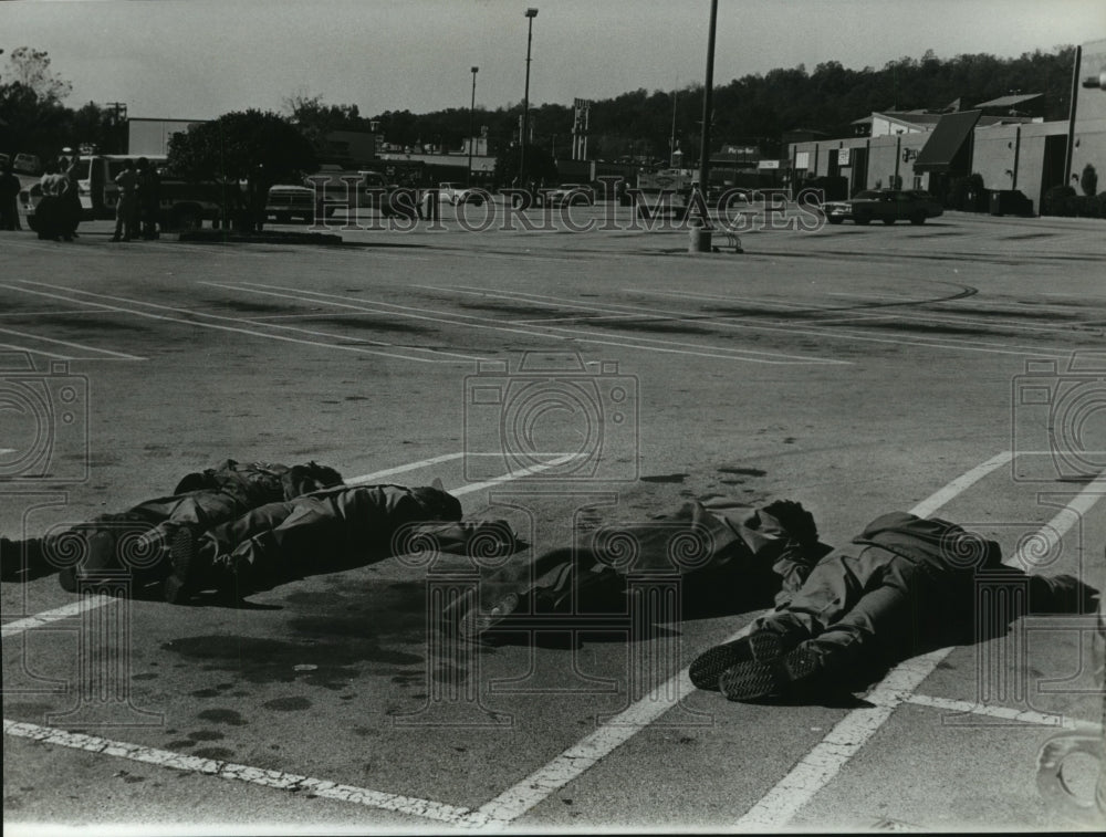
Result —
M 534 104 L 703 77 L 710 0 L 23 0 L 0 2 L 0 49 L 48 50 L 73 83 L 66 104 L 125 102 L 132 116 L 279 111 L 315 94 L 365 116 L 467 108 L 473 65 L 477 105 L 495 108 L 522 101 L 529 6 Z M 714 80 L 1100 38 L 1103 0 L 720 0 Z

